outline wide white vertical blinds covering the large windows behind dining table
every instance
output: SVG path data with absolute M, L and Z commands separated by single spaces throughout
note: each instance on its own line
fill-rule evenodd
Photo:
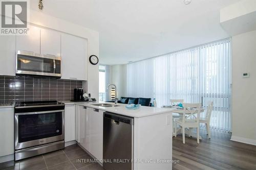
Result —
M 156 98 L 158 107 L 170 99 L 205 108 L 213 101 L 211 128 L 230 131 L 230 50 L 225 39 L 127 64 L 127 95 Z

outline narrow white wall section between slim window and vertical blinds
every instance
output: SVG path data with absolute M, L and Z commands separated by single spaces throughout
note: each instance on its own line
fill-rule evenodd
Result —
M 110 65 L 109 66 L 109 80 L 107 80 L 106 85 L 115 84 L 117 88 L 117 98 L 120 99 L 121 96 L 127 95 L 127 65 L 119 64 L 119 65 Z M 110 90 L 108 91 L 108 99 L 110 100 Z

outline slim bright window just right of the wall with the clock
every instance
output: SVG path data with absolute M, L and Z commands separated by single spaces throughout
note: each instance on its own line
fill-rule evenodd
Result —
M 99 101 L 106 100 L 106 66 L 99 65 Z

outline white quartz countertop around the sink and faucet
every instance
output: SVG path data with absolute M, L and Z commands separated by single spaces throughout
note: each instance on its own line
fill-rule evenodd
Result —
M 114 103 L 110 102 L 63 102 L 66 105 L 68 104 L 76 104 L 80 106 L 86 106 L 90 108 L 95 108 L 99 110 L 108 111 L 111 113 L 116 113 L 120 115 L 130 116 L 130 117 L 144 117 L 144 116 L 152 116 L 155 114 L 162 114 L 162 113 L 171 113 L 173 109 L 166 109 L 166 108 L 156 108 L 156 107 L 147 107 L 147 106 L 140 106 L 139 109 L 136 110 L 129 110 L 126 109 L 126 104 L 120 104 L 118 103 L 117 107 L 102 107 L 102 106 L 94 106 L 94 104 L 111 104 L 114 105 Z

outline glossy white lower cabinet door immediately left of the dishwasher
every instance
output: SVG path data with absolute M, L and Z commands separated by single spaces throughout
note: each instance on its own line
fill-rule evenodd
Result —
M 103 111 L 90 109 L 90 153 L 97 159 L 103 157 Z

